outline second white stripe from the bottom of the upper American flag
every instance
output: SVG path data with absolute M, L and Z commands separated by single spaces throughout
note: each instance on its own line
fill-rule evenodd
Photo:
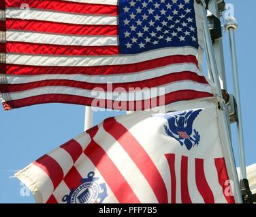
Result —
M 76 68 L 74 68 L 76 70 Z M 161 77 L 163 75 L 169 75 L 172 73 L 179 73 L 182 71 L 190 71 L 202 76 L 202 73 L 198 70 L 195 64 L 173 64 L 164 66 L 162 68 L 153 69 L 150 71 L 142 71 L 140 73 L 129 74 L 117 74 L 117 75 L 7 75 L 5 82 L 10 84 L 29 83 L 35 81 L 45 80 L 70 80 L 70 81 L 82 81 L 88 83 L 128 83 L 134 81 L 144 81 L 146 79 L 153 79 Z M 75 71 L 74 71 L 75 73 Z M 2 81 L 3 82 L 3 81 Z M 1 83 L 1 79 L 0 79 Z

